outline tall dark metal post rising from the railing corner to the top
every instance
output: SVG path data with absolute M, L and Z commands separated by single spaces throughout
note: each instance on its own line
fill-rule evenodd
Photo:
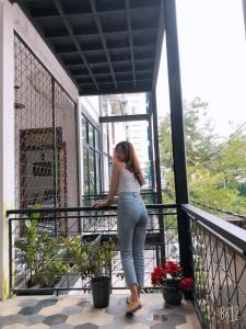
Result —
M 174 155 L 175 190 L 177 205 L 188 203 L 183 99 L 178 57 L 175 0 L 164 0 L 165 39 L 169 84 L 171 124 Z M 190 220 L 177 207 L 180 264 L 186 276 L 192 275 Z

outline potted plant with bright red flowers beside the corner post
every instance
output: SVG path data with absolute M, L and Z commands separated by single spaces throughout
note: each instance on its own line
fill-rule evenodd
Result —
M 192 277 L 185 277 L 183 268 L 173 261 L 154 268 L 151 282 L 154 286 L 162 287 L 164 300 L 171 305 L 180 304 L 184 291 L 192 291 Z

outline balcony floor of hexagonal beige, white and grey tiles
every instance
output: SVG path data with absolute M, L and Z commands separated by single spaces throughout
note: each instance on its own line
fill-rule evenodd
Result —
M 143 307 L 125 315 L 125 295 L 110 295 L 107 308 L 94 308 L 91 296 L 13 297 L 0 302 L 3 329 L 198 329 L 191 303 L 165 306 L 161 294 L 141 297 Z

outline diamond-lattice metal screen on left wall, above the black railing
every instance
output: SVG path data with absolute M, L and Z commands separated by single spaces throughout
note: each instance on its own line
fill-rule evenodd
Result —
M 17 34 L 14 64 L 15 206 L 78 205 L 75 104 Z

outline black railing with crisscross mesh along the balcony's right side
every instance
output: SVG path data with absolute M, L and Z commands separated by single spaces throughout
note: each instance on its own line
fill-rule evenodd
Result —
M 246 328 L 246 230 L 191 205 L 194 303 L 202 328 Z

